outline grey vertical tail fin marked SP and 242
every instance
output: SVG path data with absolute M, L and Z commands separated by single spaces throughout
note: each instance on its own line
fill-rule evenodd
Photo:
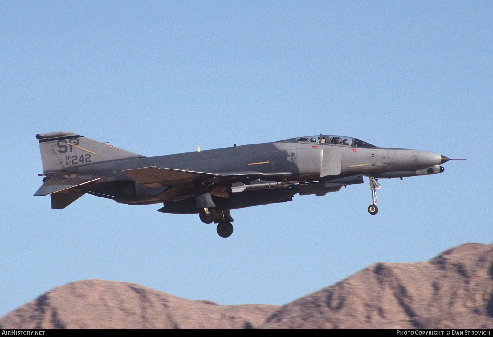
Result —
M 91 163 L 115 159 L 143 157 L 70 132 L 54 132 L 36 135 L 43 171 L 57 172 Z

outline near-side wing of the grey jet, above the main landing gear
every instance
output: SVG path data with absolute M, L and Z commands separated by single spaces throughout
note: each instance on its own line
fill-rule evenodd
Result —
M 183 169 L 167 169 L 157 167 L 147 167 L 141 169 L 126 169 L 125 173 L 141 185 L 161 183 L 167 186 L 189 185 L 191 181 L 241 181 L 260 176 L 273 178 L 282 178 L 291 175 L 291 172 L 269 172 L 262 173 L 257 171 L 240 171 L 240 172 L 198 172 Z

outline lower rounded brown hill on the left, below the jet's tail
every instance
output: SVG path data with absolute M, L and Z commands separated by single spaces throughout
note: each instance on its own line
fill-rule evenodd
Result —
M 190 301 L 138 284 L 84 280 L 57 287 L 0 319 L 2 328 L 251 328 L 279 305 Z

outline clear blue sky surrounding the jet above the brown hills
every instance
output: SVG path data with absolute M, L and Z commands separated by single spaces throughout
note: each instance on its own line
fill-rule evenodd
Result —
M 0 315 L 81 279 L 190 300 L 283 304 L 381 261 L 492 242 L 490 1 L 4 1 Z M 348 135 L 449 158 L 445 172 L 196 215 L 33 197 L 35 134 L 145 156 Z

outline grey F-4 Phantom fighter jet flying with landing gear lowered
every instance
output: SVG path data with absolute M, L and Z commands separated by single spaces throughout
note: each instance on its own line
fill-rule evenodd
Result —
M 419 150 L 382 148 L 357 138 L 316 135 L 175 155 L 144 157 L 81 135 L 36 135 L 44 173 L 35 196 L 65 208 L 85 193 L 131 205 L 163 203 L 158 211 L 199 214 L 233 233 L 230 210 L 287 202 L 295 194 L 324 196 L 370 181 L 377 214 L 378 178 L 444 171 L 450 159 Z

